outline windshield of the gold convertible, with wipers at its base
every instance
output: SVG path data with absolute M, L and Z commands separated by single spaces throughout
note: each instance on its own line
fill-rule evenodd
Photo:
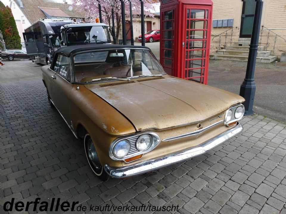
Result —
M 75 82 L 96 83 L 130 80 L 165 74 L 151 51 L 146 49 L 112 49 L 74 56 Z

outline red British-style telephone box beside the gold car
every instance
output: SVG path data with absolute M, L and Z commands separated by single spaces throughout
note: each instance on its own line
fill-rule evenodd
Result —
M 207 84 L 211 0 L 162 0 L 160 63 L 166 73 Z

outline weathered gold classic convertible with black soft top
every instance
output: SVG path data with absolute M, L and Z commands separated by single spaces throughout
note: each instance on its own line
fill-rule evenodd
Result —
M 48 101 L 102 180 L 186 161 L 243 130 L 243 97 L 167 75 L 147 47 L 69 46 L 53 59 Z

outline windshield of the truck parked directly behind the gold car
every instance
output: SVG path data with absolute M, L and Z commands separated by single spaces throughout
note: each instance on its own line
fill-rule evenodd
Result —
M 107 26 L 72 27 L 67 30 L 69 45 L 82 43 L 110 43 Z

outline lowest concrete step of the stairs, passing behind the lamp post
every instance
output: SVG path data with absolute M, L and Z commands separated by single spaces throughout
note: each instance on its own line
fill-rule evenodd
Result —
M 240 55 L 222 55 L 222 54 L 212 54 L 210 55 L 210 59 L 221 59 L 221 60 L 233 60 L 233 61 L 248 61 L 248 56 L 240 56 Z M 266 56 L 259 57 L 257 56 L 256 62 L 262 63 L 271 63 L 277 59 L 277 56 Z

